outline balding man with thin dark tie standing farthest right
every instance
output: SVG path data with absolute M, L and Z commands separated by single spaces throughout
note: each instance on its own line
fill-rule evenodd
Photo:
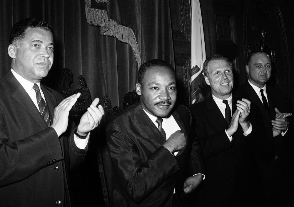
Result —
M 288 129 L 291 115 L 289 102 L 283 91 L 266 83 L 271 76 L 271 59 L 265 52 L 249 55 L 246 71 L 248 82 L 236 91 L 257 105 L 274 153 L 259 160 L 261 199 L 266 206 L 293 206 L 293 130 Z M 283 113 L 282 113 L 283 112 Z

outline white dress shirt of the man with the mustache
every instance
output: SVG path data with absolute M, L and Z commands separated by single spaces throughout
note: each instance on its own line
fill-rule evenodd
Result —
M 158 119 L 158 117 L 153 116 L 152 114 L 149 114 L 148 112 L 146 112 L 145 109 L 143 109 L 143 111 L 147 114 L 147 116 L 151 119 L 151 121 L 153 122 L 153 124 L 156 126 L 156 128 L 158 128 L 158 124 L 156 122 L 156 119 Z M 173 118 L 173 115 L 170 115 L 168 118 L 162 118 L 162 124 L 161 124 L 161 128 L 165 131 L 166 133 L 166 140 L 168 140 L 168 138 L 171 136 L 171 134 L 175 133 L 178 130 L 182 130 L 178 123 L 176 122 L 175 118 Z M 174 155 L 176 156 L 178 154 L 177 152 L 174 152 Z M 195 175 L 203 175 L 203 180 L 205 179 L 205 175 L 202 173 L 197 173 Z M 193 175 L 194 176 L 194 175 Z M 173 189 L 173 193 L 175 193 L 175 189 Z

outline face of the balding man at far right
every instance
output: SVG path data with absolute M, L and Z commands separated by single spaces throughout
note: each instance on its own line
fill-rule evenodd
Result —
M 249 81 L 253 85 L 263 88 L 265 83 L 270 79 L 270 74 L 272 72 L 270 58 L 265 53 L 254 54 L 248 65 L 246 65 L 246 71 Z

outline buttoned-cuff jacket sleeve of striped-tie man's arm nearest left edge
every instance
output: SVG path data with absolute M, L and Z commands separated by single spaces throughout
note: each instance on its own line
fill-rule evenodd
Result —
M 0 114 L 0 186 L 21 181 L 61 159 L 60 141 L 53 128 L 10 143 Z

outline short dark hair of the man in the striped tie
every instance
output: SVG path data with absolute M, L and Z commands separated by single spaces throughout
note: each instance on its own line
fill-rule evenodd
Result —
M 29 27 L 31 28 L 38 27 L 53 33 L 52 28 L 47 22 L 44 22 L 35 18 L 22 19 L 16 22 L 11 28 L 8 45 L 10 44 L 17 45 L 20 40 L 24 39 L 25 31 Z

